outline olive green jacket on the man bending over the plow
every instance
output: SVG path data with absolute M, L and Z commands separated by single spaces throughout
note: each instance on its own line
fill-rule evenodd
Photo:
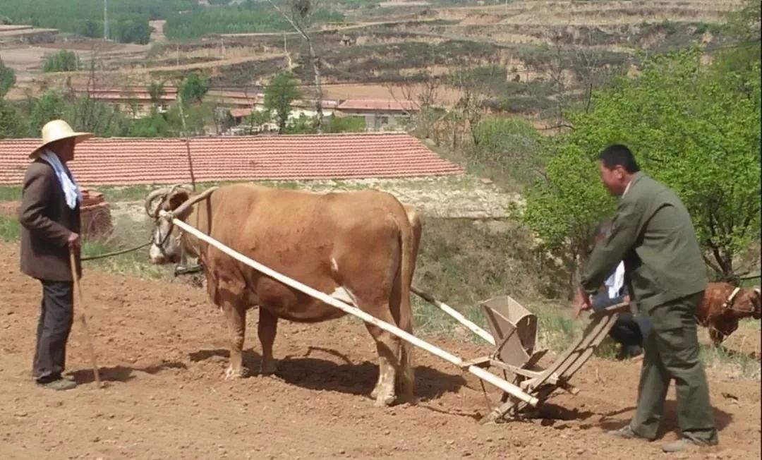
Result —
M 585 292 L 595 292 L 620 260 L 631 300 L 646 314 L 706 289 L 706 267 L 687 209 L 672 190 L 642 172 L 621 197 L 610 234 L 582 270 Z

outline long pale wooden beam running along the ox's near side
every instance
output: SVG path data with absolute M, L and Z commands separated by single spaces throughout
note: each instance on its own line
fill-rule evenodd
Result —
M 196 228 L 192 227 L 191 225 L 187 225 L 187 223 L 181 221 L 180 219 L 174 219 L 174 215 L 171 214 L 170 212 L 162 211 L 160 216 L 162 216 L 162 218 L 164 219 L 171 219 L 171 222 L 174 223 L 174 225 L 177 225 L 178 227 L 182 228 L 185 232 L 188 232 L 191 235 L 194 235 L 196 238 L 199 238 L 202 241 L 206 241 L 207 243 L 213 245 L 215 248 L 219 249 L 219 251 L 223 251 L 225 254 L 228 254 L 230 257 L 234 258 L 235 260 L 238 260 L 242 264 L 246 264 L 249 267 L 255 270 L 258 270 L 267 276 L 271 276 L 275 280 L 280 281 L 280 283 L 286 284 L 287 286 L 291 286 L 294 289 L 298 289 L 299 291 L 304 292 L 305 294 L 310 295 L 314 297 L 315 299 L 325 302 L 326 304 L 331 305 L 335 308 L 338 308 L 346 313 L 349 313 L 350 315 L 357 316 L 357 318 L 360 318 L 361 320 L 367 323 L 374 324 L 382 328 L 384 331 L 394 334 L 395 336 L 400 337 L 402 340 L 406 340 L 412 343 L 416 347 L 423 348 L 427 352 L 434 354 L 436 356 L 439 356 L 440 358 L 445 359 L 446 361 L 449 361 L 450 363 L 454 364 L 455 366 L 458 366 L 461 369 L 465 367 L 465 362 L 463 361 L 463 359 L 459 358 L 458 356 L 455 356 L 452 353 L 449 353 L 445 350 L 435 347 L 431 343 L 428 343 L 425 340 L 421 340 L 418 337 L 415 337 L 414 335 L 408 333 L 407 331 L 402 331 L 402 329 L 400 329 L 399 327 L 396 327 L 393 324 L 389 324 L 386 321 L 381 321 L 378 318 L 373 317 L 372 315 L 368 315 L 365 311 L 360 310 L 360 308 L 347 305 L 344 302 L 341 302 L 338 299 L 334 299 L 330 295 L 325 294 L 325 292 L 320 292 L 317 289 L 312 289 L 311 287 L 306 286 L 303 283 L 299 283 L 299 281 L 292 280 L 288 276 L 278 273 L 277 271 L 272 270 L 271 268 L 258 263 L 256 260 L 252 260 L 249 257 L 246 257 L 245 255 L 240 254 L 237 251 L 234 251 L 233 249 L 227 247 L 225 244 L 222 244 L 219 241 L 216 241 L 216 239 L 211 238 L 209 235 L 205 235 L 203 232 L 199 232 Z M 532 395 L 528 395 L 525 391 L 522 391 L 521 388 L 499 378 L 497 375 L 492 374 L 486 371 L 485 369 L 482 369 L 476 366 L 467 366 L 465 367 L 465 369 L 468 372 L 471 372 L 473 375 L 476 375 L 477 377 L 479 377 L 479 379 L 482 379 L 485 382 L 490 383 L 491 385 L 495 385 L 501 390 L 514 396 L 514 398 L 517 398 L 520 401 L 530 404 L 530 406 L 532 407 L 536 407 L 537 404 L 539 404 L 539 400 L 537 398 L 534 398 Z

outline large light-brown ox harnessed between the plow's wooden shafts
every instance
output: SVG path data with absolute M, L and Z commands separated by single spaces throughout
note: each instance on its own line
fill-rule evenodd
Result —
M 317 194 L 251 184 L 219 187 L 205 200 L 186 203 L 198 198 L 178 187 L 155 190 L 146 200 L 146 211 L 155 218 L 160 209 L 174 211 L 178 219 L 229 248 L 412 333 L 410 285 L 421 235 L 414 208 L 376 190 Z M 152 263 L 176 262 L 183 253 L 198 257 L 210 299 L 225 312 L 231 341 L 227 378 L 244 375 L 249 308 L 259 307 L 262 374 L 275 370 L 278 318 L 312 323 L 344 315 L 178 232 L 166 219 L 156 222 Z M 379 355 L 379 379 L 371 393 L 376 405 L 392 404 L 398 393 L 412 398 L 411 345 L 379 327 L 367 324 L 367 329 Z

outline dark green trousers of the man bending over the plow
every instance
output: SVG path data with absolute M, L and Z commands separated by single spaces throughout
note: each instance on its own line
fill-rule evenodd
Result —
M 716 444 L 714 410 L 709 385 L 699 359 L 696 307 L 703 292 L 658 305 L 648 316 L 653 329 L 645 342 L 638 387 L 638 408 L 630 428 L 639 436 L 655 439 L 667 390 L 674 379 L 677 389 L 677 423 L 683 437 Z

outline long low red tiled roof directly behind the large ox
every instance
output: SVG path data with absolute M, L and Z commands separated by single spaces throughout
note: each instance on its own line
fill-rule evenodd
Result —
M 24 180 L 38 139 L 0 141 L 0 184 Z M 405 133 L 191 138 L 197 181 L 349 179 L 463 174 Z M 182 139 L 90 139 L 77 146 L 72 173 L 83 185 L 188 182 Z

